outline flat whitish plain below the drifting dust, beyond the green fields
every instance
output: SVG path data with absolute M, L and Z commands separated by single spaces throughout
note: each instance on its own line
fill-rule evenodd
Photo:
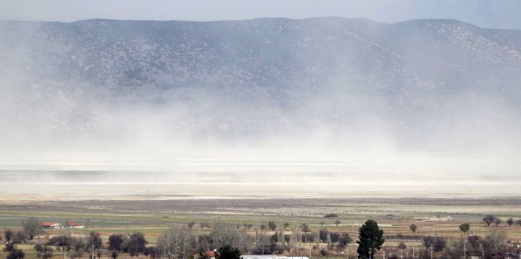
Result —
M 116 196 L 521 195 L 520 160 L 403 153 L 283 159 L 228 156 L 8 160 L 4 194 Z

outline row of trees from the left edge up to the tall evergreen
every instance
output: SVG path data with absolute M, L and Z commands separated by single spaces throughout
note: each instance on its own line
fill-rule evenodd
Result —
M 118 253 L 121 252 L 130 255 L 142 253 L 151 255 L 151 257 L 162 252 L 170 258 L 184 258 L 184 255 L 201 254 L 204 251 L 223 246 L 231 246 L 249 253 L 282 253 L 283 251 L 298 251 L 301 243 L 313 241 L 316 241 L 317 247 L 320 242 L 324 242 L 327 243 L 327 249 L 337 247 L 337 251 L 341 251 L 351 242 L 351 237 L 347 233 L 329 232 L 326 229 L 317 229 L 317 232 L 313 233 L 306 223 L 294 225 L 291 234 L 284 234 L 284 231 L 290 226 L 289 223 L 286 222 L 278 227 L 275 222 L 270 221 L 267 224 L 268 227 L 255 226 L 255 236 L 252 236 L 250 231 L 253 225 L 245 224 L 244 228 L 232 227 L 232 225 L 225 224 L 220 218 L 213 220 L 211 225 L 208 223 L 200 225 L 201 229 L 203 227 L 212 229 L 209 235 L 199 235 L 194 229 L 194 225 L 194 222 L 190 222 L 186 227 L 169 229 L 158 239 L 156 247 L 146 247 L 147 241 L 139 232 L 130 235 L 113 234 L 108 237 L 106 251 L 112 258 L 117 258 Z M 275 231 L 275 234 L 263 232 L 265 229 Z M 25 220 L 19 229 L 4 231 L 6 246 L 8 246 L 5 249 L 13 251 L 15 254 L 18 251 L 15 244 L 31 240 L 34 236 L 43 233 L 41 222 L 32 217 Z M 253 244 L 255 245 L 253 246 Z M 100 248 L 103 248 L 103 241 L 99 233 L 91 232 L 86 238 L 71 234 L 52 236 L 46 241 L 46 244 L 38 244 L 34 250 L 37 251 L 38 258 L 45 259 L 51 258 L 56 251 L 63 253 L 64 256 L 68 255 L 70 258 L 79 258 L 84 253 L 94 251 L 100 258 L 102 253 Z

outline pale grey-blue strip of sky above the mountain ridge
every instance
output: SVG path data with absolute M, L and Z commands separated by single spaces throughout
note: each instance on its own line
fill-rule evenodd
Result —
M 463 20 L 521 30 L 517 0 L 0 0 L 0 20 L 245 20 L 340 16 L 396 23 L 418 18 Z

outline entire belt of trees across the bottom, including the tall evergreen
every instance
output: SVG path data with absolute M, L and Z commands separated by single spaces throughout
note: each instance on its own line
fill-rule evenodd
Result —
M 34 222 L 31 223 L 30 220 L 27 220 L 23 224 L 34 225 Z M 327 251 L 334 248 L 338 252 L 343 251 L 347 244 L 352 241 L 348 233 L 329 232 L 327 229 L 316 229 L 315 232 L 312 232 L 306 223 L 293 225 L 290 234 L 285 234 L 285 229 L 289 227 L 289 224 L 277 228 L 275 222 L 268 222 L 269 229 L 274 231 L 275 234 L 272 234 L 273 232 L 265 233 L 261 231 L 263 230 L 261 226 L 255 226 L 254 236 L 249 225 L 244 225 L 244 228 L 239 227 L 239 225 L 228 225 L 220 218 L 216 218 L 211 225 L 208 225 L 205 227 L 211 228 L 210 234 L 199 234 L 198 230 L 194 229 L 194 223 L 168 229 L 158 239 L 157 246 L 147 246 L 148 242 L 144 234 L 140 232 L 128 235 L 112 234 L 108 237 L 106 251 L 114 259 L 121 252 L 128 253 L 131 256 L 144 254 L 151 258 L 156 258 L 160 254 L 168 258 L 191 258 L 192 255 L 203 255 L 206 251 L 225 247 L 232 250 L 237 249 L 239 253 L 265 254 L 283 253 L 284 251 L 296 253 L 301 251 L 301 244 L 303 243 L 316 242 L 315 248 L 320 249 L 322 242 L 327 246 L 320 252 L 327 254 Z M 409 228 L 413 234 L 417 229 L 414 224 L 410 225 Z M 459 228 L 466 234 L 470 229 L 470 224 L 463 223 Z M 32 239 L 39 234 L 37 230 L 33 230 L 31 227 L 21 227 L 17 230 L 6 229 L 4 231 L 6 239 L 4 251 L 8 252 L 8 259 L 21 259 L 25 256 L 23 251 L 16 248 L 15 244 L 25 239 Z M 424 258 L 429 253 L 440 253 L 448 258 L 458 258 L 462 247 L 469 254 L 487 253 L 487 255 L 500 253 L 506 248 L 505 234 L 498 229 L 492 229 L 489 236 L 484 239 L 480 239 L 479 236 L 461 236 L 459 239 L 445 239 L 441 236 L 414 237 L 422 241 L 422 246 L 418 248 L 417 253 L 420 258 Z M 384 241 L 383 231 L 379 229 L 377 222 L 368 220 L 359 229 L 358 241 L 356 242 L 358 244 L 358 257 L 360 259 L 372 258 L 372 255 L 382 249 Z M 70 234 L 53 236 L 46 244 L 34 246 L 34 250 L 37 251 L 37 258 L 51 258 L 54 247 L 58 252 L 69 255 L 70 258 L 79 258 L 83 253 L 89 252 L 93 252 L 98 258 L 101 258 L 102 252 L 100 249 L 103 248 L 103 241 L 100 234 L 96 232 L 91 232 L 87 237 L 71 236 Z M 392 248 L 387 247 L 385 249 L 387 249 L 389 258 L 396 256 L 396 251 L 393 252 Z M 406 244 L 402 242 L 396 249 L 403 253 L 406 250 Z

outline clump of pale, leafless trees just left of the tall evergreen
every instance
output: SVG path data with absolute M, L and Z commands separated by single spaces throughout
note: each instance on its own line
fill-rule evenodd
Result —
M 261 231 L 261 226 L 256 226 L 253 235 L 246 227 L 227 225 L 217 218 L 212 222 L 210 234 L 198 234 L 189 226 L 168 229 L 158 239 L 157 248 L 169 258 L 187 258 L 224 246 L 237 248 L 242 253 L 295 253 L 301 249 L 302 243 L 313 241 L 317 243 L 317 248 L 323 242 L 327 243 L 327 249 L 336 247 L 337 251 L 342 251 L 352 241 L 347 233 L 329 232 L 326 229 L 317 229 L 313 234 L 306 224 L 294 225 L 291 234 L 284 234 L 288 225 L 277 229 L 275 222 L 268 222 L 268 226 L 275 231 L 274 234 L 266 234 Z

